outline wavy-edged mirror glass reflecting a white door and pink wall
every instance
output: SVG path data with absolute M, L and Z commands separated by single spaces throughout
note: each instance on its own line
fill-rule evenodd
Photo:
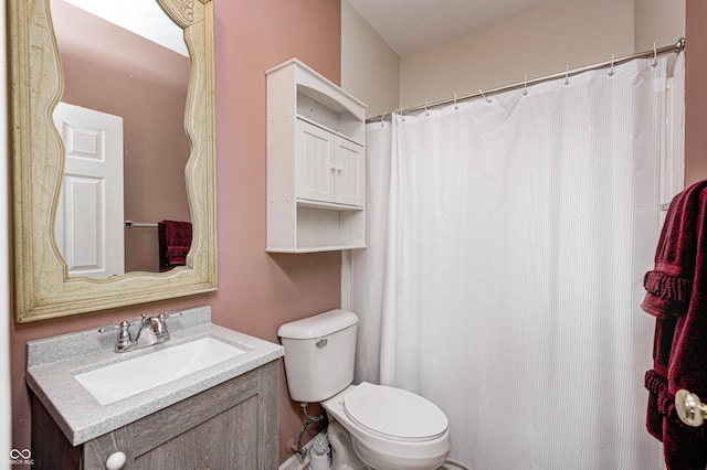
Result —
M 112 11 L 96 11 L 102 4 Z M 51 0 L 51 12 L 64 76 L 54 113 L 65 151 L 54 227 L 68 277 L 183 265 L 191 242 L 183 30 L 157 0 Z

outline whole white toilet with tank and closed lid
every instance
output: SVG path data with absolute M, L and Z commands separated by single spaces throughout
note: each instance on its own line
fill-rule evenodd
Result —
M 283 324 L 293 400 L 320 403 L 334 469 L 437 469 L 451 448 L 449 421 L 432 402 L 401 388 L 354 383 L 358 317 L 346 310 Z

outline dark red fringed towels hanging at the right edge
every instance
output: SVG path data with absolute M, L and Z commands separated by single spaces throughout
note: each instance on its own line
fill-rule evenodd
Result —
M 669 470 L 705 470 L 707 430 L 677 416 L 675 393 L 707 398 L 707 181 L 673 199 L 641 307 L 655 317 L 646 426 L 663 441 Z

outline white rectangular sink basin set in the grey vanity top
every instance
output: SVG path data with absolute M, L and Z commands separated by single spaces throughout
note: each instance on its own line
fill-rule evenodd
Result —
M 202 338 L 76 374 L 74 378 L 99 404 L 109 405 L 244 353 L 223 341 Z

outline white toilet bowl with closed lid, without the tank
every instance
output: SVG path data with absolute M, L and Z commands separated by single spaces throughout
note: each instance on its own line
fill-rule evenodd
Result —
M 432 402 L 411 392 L 363 382 L 350 385 L 321 406 L 329 420 L 348 431 L 348 442 L 358 459 L 372 469 L 436 469 L 450 453 L 446 416 Z M 340 446 L 348 442 L 344 440 Z M 335 453 L 337 444 L 333 444 Z M 350 453 L 349 449 L 339 451 Z

